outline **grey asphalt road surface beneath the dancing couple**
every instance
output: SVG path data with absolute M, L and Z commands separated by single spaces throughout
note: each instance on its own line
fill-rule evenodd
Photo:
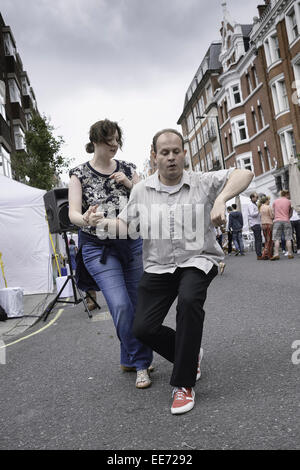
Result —
M 250 252 L 225 262 L 208 290 L 191 412 L 171 415 L 172 365 L 157 354 L 149 389 L 137 390 L 135 374 L 120 370 L 100 294 L 92 319 L 82 303 L 59 306 L 25 334 L 15 330 L 18 342 L 5 340 L 0 449 L 300 449 L 300 365 L 292 360 L 300 256 L 257 261 Z M 42 311 L 38 303 L 26 313 Z M 165 324 L 175 323 L 176 303 Z

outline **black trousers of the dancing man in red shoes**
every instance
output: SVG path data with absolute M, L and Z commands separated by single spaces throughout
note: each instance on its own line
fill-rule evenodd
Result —
M 193 387 L 196 382 L 207 288 L 217 275 L 197 268 L 177 268 L 174 273 L 144 272 L 138 290 L 133 334 L 174 364 L 170 384 Z M 176 331 L 163 325 L 178 296 Z

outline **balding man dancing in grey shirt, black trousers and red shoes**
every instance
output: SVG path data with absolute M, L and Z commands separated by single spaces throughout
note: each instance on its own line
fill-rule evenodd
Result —
M 186 172 L 183 137 L 174 129 L 154 136 L 153 152 L 157 171 L 134 186 L 117 225 L 119 236 L 140 228 L 144 274 L 133 333 L 174 364 L 171 412 L 180 414 L 194 406 L 203 305 L 224 257 L 214 226 L 225 223 L 226 201 L 248 187 L 253 173 Z M 174 331 L 162 323 L 176 297 Z

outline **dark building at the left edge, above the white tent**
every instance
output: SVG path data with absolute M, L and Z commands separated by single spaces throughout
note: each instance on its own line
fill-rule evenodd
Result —
M 0 14 L 0 174 L 12 177 L 11 154 L 24 150 L 25 130 L 37 104 L 13 33 Z

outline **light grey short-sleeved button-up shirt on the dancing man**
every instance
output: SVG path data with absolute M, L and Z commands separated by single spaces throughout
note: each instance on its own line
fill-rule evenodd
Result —
M 128 224 L 131 237 L 139 227 L 146 272 L 195 267 L 208 273 L 224 258 L 210 213 L 232 171 L 184 171 L 171 192 L 161 185 L 158 172 L 134 186 L 119 218 Z

